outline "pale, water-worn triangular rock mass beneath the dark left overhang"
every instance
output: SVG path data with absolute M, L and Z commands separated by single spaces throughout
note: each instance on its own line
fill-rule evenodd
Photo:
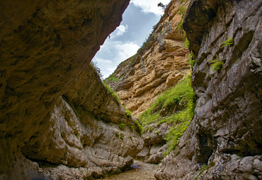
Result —
M 52 179 L 120 172 L 142 150 L 131 117 L 97 78 L 91 67 L 81 73 L 75 87 L 57 100 L 48 126 L 43 124 L 22 148 Z M 121 130 L 119 123 L 127 126 Z

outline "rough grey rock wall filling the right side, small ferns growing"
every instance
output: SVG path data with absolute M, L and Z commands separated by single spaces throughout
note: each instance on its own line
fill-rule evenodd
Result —
M 261 5 L 190 2 L 183 27 L 197 57 L 195 116 L 156 179 L 262 179 Z M 227 36 L 234 44 L 223 49 Z M 216 54 L 224 64 L 213 71 Z

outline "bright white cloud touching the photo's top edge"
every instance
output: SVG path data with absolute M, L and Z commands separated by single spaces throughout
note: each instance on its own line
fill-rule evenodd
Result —
M 131 0 L 131 3 L 135 6 L 142 8 L 144 13 L 155 13 L 156 15 L 163 14 L 163 10 L 157 6 L 159 2 L 166 5 L 169 4 L 171 0 Z

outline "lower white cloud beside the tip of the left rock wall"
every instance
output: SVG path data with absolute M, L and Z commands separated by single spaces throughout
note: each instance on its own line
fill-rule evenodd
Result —
M 107 78 L 115 71 L 118 64 L 136 54 L 138 49 L 139 46 L 135 42 L 106 40 L 92 61 L 97 62 L 103 78 Z

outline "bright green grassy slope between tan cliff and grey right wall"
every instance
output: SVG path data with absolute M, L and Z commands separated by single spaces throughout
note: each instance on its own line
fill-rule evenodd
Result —
M 178 83 L 175 87 L 166 90 L 139 119 L 142 127 L 152 123 L 156 123 L 157 126 L 163 123 L 171 124 L 171 130 L 165 138 L 166 143 L 169 143 L 169 150 L 166 151 L 165 155 L 176 148 L 179 139 L 193 118 L 195 92 L 191 87 L 190 78 L 188 76 L 188 78 Z

